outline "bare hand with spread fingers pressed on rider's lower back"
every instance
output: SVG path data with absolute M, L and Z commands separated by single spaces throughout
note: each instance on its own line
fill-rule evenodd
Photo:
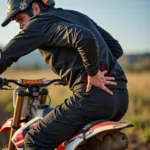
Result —
M 98 73 L 95 76 L 88 76 L 88 84 L 86 87 L 86 92 L 89 92 L 92 88 L 92 86 L 99 87 L 100 89 L 104 90 L 105 92 L 109 93 L 110 95 L 113 95 L 113 92 L 110 91 L 105 85 L 117 85 L 116 82 L 112 82 L 115 80 L 114 77 L 105 77 L 104 75 L 107 73 L 107 70 L 101 72 L 98 71 Z

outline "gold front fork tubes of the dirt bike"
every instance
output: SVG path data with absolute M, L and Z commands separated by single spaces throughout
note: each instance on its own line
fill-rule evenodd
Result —
M 19 124 L 20 124 L 20 119 L 21 119 L 21 110 L 22 110 L 22 106 L 23 106 L 23 99 L 24 99 L 24 96 L 26 96 L 26 95 L 27 95 L 27 92 L 25 92 L 23 90 L 19 90 L 17 92 L 16 105 L 14 108 L 13 121 L 12 121 L 12 125 L 11 125 L 10 136 L 9 136 L 8 150 L 16 149 L 16 147 L 13 144 L 11 139 L 12 139 L 14 133 L 20 127 Z M 47 95 L 48 95 L 48 90 L 42 89 L 41 102 L 40 102 L 41 104 L 46 104 Z

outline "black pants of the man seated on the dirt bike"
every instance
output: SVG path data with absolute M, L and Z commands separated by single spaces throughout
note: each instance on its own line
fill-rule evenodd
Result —
M 113 93 L 111 96 L 96 87 L 89 93 L 75 92 L 28 132 L 25 149 L 54 150 L 90 121 L 119 121 L 128 108 L 128 92 L 114 89 Z

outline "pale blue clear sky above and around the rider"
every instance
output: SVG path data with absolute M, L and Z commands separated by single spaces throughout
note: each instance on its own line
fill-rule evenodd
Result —
M 6 16 L 0 1 L 0 24 Z M 119 41 L 125 54 L 150 52 L 150 0 L 56 0 L 56 7 L 80 11 Z M 20 31 L 15 22 L 0 26 L 4 46 Z

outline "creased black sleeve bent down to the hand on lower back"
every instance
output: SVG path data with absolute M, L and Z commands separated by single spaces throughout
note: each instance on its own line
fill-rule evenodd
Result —
M 51 26 L 51 36 L 49 43 L 56 47 L 72 47 L 78 50 L 87 74 L 94 76 L 99 69 L 99 53 L 97 41 L 94 34 L 86 28 L 70 24 L 68 22 L 58 22 Z M 46 32 L 46 31 L 45 31 Z

